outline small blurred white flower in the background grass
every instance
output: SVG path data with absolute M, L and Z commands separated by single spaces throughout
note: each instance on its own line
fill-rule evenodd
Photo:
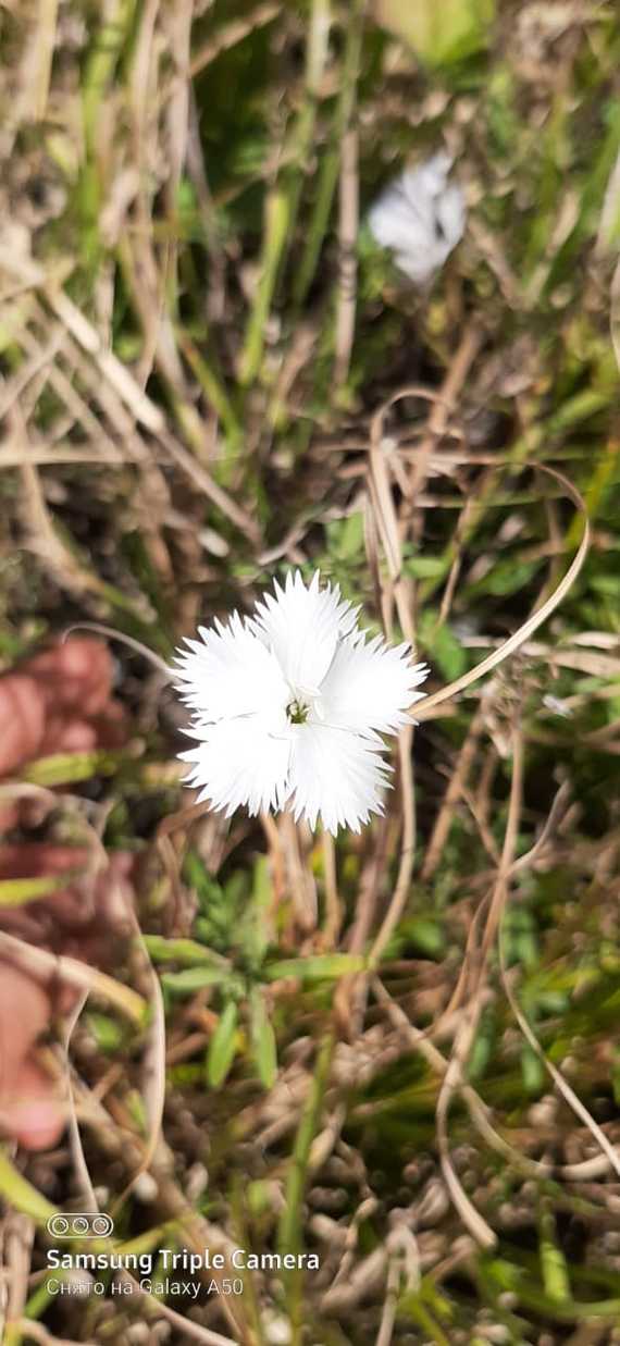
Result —
M 397 267 L 424 285 L 444 265 L 465 229 L 461 188 L 448 182 L 452 159 L 444 151 L 406 168 L 369 211 L 369 226 Z

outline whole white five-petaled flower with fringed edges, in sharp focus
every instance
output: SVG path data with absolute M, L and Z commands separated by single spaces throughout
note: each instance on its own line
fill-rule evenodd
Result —
M 172 674 L 192 711 L 198 746 L 180 756 L 200 801 L 227 817 L 289 808 L 312 828 L 320 814 L 332 833 L 383 812 L 381 735 L 412 723 L 428 668 L 409 645 L 367 639 L 358 612 L 338 586 L 319 588 L 317 571 L 309 587 L 297 571 L 251 618 L 234 612 L 186 641 Z

